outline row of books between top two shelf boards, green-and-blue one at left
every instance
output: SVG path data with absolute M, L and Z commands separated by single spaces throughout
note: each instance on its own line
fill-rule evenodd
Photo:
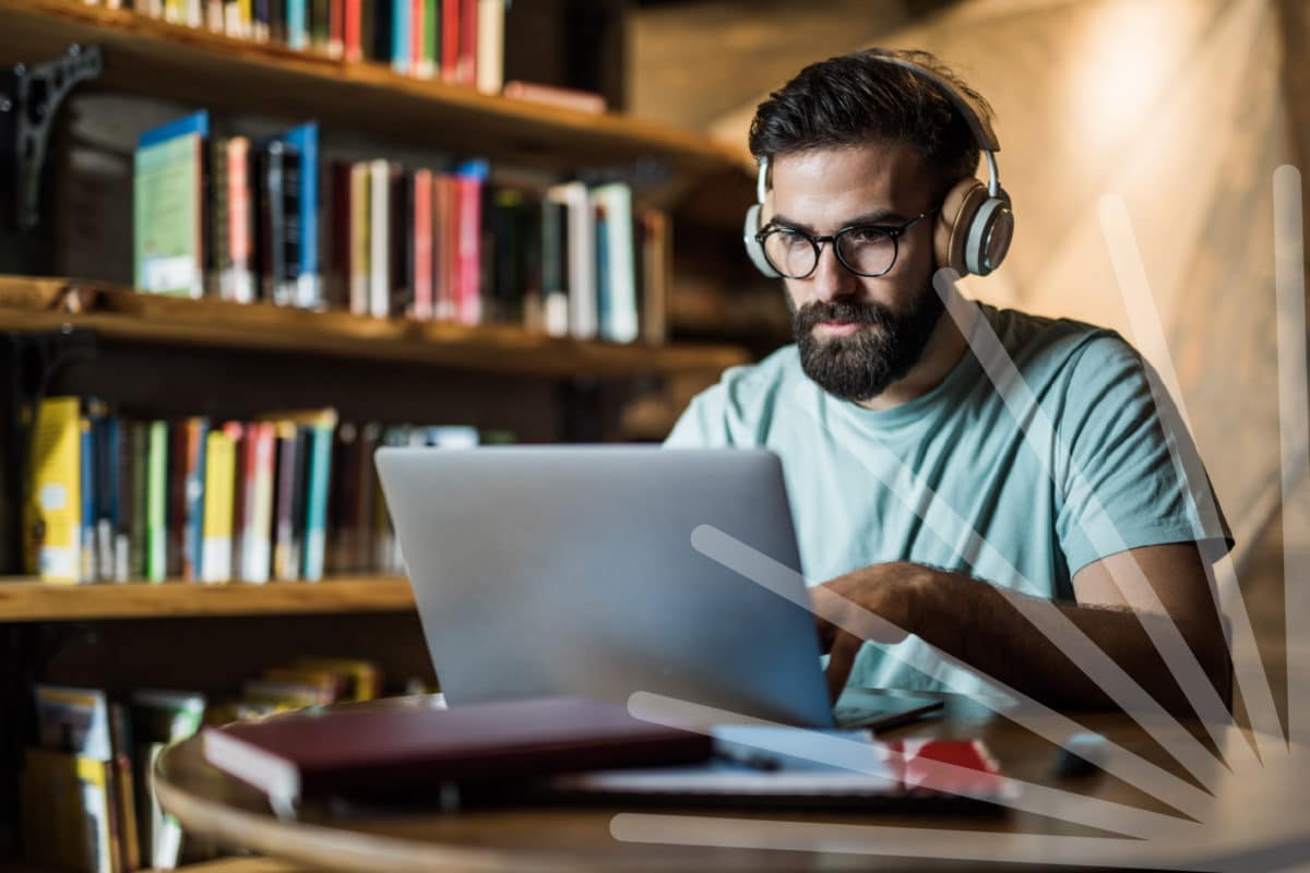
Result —
M 208 114 L 141 135 L 135 284 L 358 315 L 658 344 L 672 233 L 624 182 L 320 160 L 317 124 L 252 140 Z M 321 192 L 326 191 L 326 196 Z

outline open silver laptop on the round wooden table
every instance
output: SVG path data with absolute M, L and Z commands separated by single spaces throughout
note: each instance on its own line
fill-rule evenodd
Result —
M 783 597 L 693 547 L 711 525 L 800 567 L 770 452 L 385 448 L 376 462 L 452 705 L 645 691 L 812 728 L 941 707 L 848 691 L 834 712 L 799 575 Z

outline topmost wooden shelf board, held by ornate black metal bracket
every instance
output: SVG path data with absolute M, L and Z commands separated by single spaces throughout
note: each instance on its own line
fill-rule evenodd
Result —
M 464 156 L 553 169 L 655 160 L 667 186 L 745 175 L 734 149 L 663 124 L 542 106 L 401 76 L 271 43 L 232 39 L 144 14 L 72 0 L 0 3 L 0 65 L 41 63 L 71 43 L 105 50 L 100 88 L 216 111 L 317 119 Z

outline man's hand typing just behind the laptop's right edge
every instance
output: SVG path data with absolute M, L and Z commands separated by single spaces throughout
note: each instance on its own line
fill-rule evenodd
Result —
M 917 592 L 934 571 L 910 563 L 872 564 L 810 589 L 819 644 L 836 703 L 865 640 L 900 643 L 914 633 Z

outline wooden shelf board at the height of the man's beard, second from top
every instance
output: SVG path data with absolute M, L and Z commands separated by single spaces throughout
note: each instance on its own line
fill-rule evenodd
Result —
M 0 276 L 0 330 L 66 329 L 131 343 L 555 377 L 719 372 L 747 361 L 747 353 L 732 346 L 618 346 L 559 339 L 512 326 L 363 318 L 343 312 L 160 297 L 67 279 Z

